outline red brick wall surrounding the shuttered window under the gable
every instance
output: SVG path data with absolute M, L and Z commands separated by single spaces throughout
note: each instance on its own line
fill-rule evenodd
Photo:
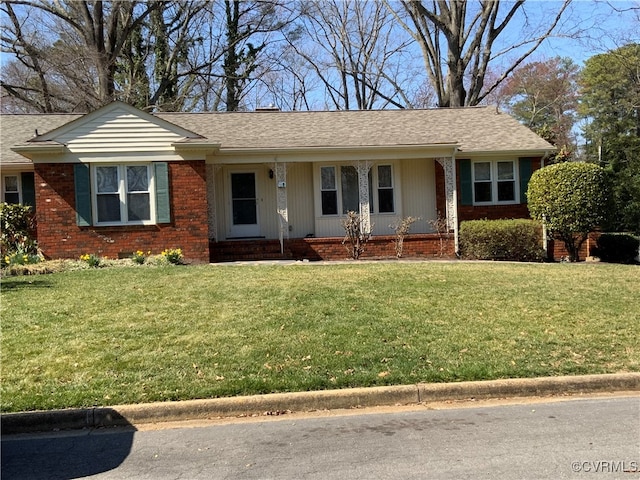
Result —
M 136 250 L 181 248 L 187 261 L 209 261 L 204 160 L 169 163 L 170 224 L 79 227 L 73 164 L 36 164 L 35 183 L 38 243 L 47 258 L 118 258 Z

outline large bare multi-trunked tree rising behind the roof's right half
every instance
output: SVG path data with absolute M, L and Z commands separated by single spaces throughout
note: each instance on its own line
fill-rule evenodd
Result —
M 544 21 L 537 28 L 525 30 L 523 25 L 527 25 L 528 17 L 523 0 L 509 3 L 485 0 L 478 4 L 403 0 L 402 11 L 390 0 L 385 2 L 420 46 L 429 83 L 437 93 L 440 107 L 482 102 L 553 34 L 570 4 L 570 0 L 565 0 L 552 14 L 543 15 Z M 541 4 L 532 5 L 539 8 Z M 499 40 L 506 36 L 507 27 L 523 18 L 517 40 L 501 45 Z M 505 60 L 501 75 L 485 84 L 490 65 L 507 57 L 510 58 Z

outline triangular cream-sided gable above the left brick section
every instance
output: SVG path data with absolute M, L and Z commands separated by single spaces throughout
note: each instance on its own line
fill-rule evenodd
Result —
M 200 135 L 126 103 L 113 102 L 43 135 L 32 144 L 65 145 L 73 153 L 171 151 Z

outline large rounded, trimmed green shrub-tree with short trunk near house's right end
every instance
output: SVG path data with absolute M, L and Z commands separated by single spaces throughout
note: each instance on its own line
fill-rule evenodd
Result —
M 577 262 L 589 232 L 609 212 L 609 182 L 604 169 L 592 163 L 557 163 L 533 172 L 527 201 L 531 216 L 564 242 L 569 260 Z

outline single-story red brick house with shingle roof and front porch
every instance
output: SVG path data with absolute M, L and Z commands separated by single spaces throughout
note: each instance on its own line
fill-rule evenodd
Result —
M 35 199 L 50 258 L 182 248 L 196 262 L 345 258 L 358 211 L 365 255 L 420 217 L 406 256 L 452 255 L 459 222 L 528 217 L 532 171 L 554 148 L 495 107 L 2 115 L 3 199 Z

